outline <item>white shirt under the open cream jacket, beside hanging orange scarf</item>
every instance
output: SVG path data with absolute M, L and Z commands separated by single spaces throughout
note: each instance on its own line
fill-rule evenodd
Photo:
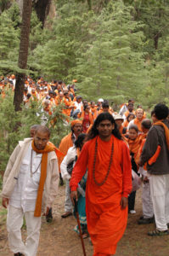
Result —
M 32 150 L 31 143 L 22 160 L 18 181 L 14 186 L 14 191 L 10 197 L 9 204 L 16 208 L 22 208 L 23 212 L 35 211 L 37 201 L 37 190 L 41 175 L 42 154 L 37 154 Z M 32 162 L 32 166 L 31 166 Z M 39 166 L 39 167 L 38 167 Z M 38 167 L 38 169 L 37 169 Z M 35 172 L 37 170 L 37 172 Z M 32 174 L 31 177 L 31 171 Z

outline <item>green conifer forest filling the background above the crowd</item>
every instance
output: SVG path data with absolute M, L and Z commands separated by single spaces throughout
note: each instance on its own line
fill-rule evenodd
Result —
M 134 97 L 149 108 L 168 102 L 169 0 L 57 0 L 56 16 L 42 24 L 33 11 L 26 73 L 77 79 L 88 100 L 115 106 Z M 20 72 L 20 12 L 0 15 L 0 74 Z M 115 107 L 116 108 L 116 107 Z

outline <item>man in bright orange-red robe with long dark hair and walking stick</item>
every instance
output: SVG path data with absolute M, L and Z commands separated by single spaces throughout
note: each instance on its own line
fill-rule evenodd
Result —
M 127 226 L 127 197 L 132 190 L 132 166 L 127 144 L 110 113 L 101 113 L 73 169 L 71 199 L 88 169 L 86 189 L 87 230 L 93 256 L 115 254 Z

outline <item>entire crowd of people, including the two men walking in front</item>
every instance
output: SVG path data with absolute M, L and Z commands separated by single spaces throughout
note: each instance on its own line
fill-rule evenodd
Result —
M 14 90 L 14 86 L 14 75 L 2 78 L 1 95 L 5 97 L 5 89 Z M 37 83 L 25 79 L 23 100 L 28 108 L 30 100 L 41 101 L 43 111 L 51 115 L 54 106 L 61 104 L 71 131 L 55 148 L 49 143 L 48 128 L 35 125 L 32 138 L 19 143 L 9 159 L 3 177 L 3 207 L 8 206 L 9 246 L 14 255 L 37 254 L 41 212 L 52 221 L 52 203 L 63 180 L 65 212 L 61 217 L 72 215 L 77 201 L 81 226 L 75 230 L 78 234 L 82 230 L 83 239 L 90 236 L 93 256 L 115 254 L 127 214 L 135 213 L 141 182 L 143 216 L 138 224 L 155 222 L 156 229 L 149 236 L 169 235 L 167 106 L 158 103 L 147 119 L 141 105 L 134 108 L 133 99 L 123 103 L 117 113 L 107 100 L 87 102 L 77 92 L 76 80 L 66 85 L 55 80 L 49 84 L 42 77 Z M 20 236 L 24 214 L 25 244 Z

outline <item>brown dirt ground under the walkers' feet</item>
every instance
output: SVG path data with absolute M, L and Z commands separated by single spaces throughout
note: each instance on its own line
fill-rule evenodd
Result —
M 37 256 L 82 256 L 80 238 L 73 231 L 76 219 L 61 218 L 64 212 L 65 186 L 59 187 L 59 194 L 54 201 L 54 221 L 46 223 L 42 218 L 42 229 Z M 129 214 L 127 230 L 118 244 L 116 256 L 168 256 L 169 236 L 149 237 L 147 232 L 154 230 L 154 224 L 138 225 L 137 220 L 142 214 L 141 189 L 137 192 L 136 214 Z M 5 225 L 6 212 L 0 207 L 0 255 L 12 256 L 8 249 L 7 230 Z M 23 230 L 25 239 L 26 230 Z M 84 240 L 87 256 L 93 255 L 93 247 Z

